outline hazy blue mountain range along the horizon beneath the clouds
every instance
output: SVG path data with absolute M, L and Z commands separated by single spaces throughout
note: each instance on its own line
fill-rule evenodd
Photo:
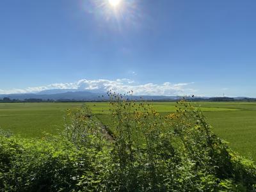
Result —
M 103 97 L 102 97 L 103 96 Z M 109 97 L 106 93 L 97 93 L 97 92 L 88 92 L 81 91 L 76 89 L 55 89 L 55 90 L 44 90 L 39 93 L 15 93 L 15 94 L 0 94 L 0 99 L 8 97 L 10 99 L 42 99 L 42 100 L 84 100 L 84 101 L 99 101 L 99 100 L 108 100 Z M 180 100 L 183 96 L 150 96 L 150 95 L 141 95 L 141 96 L 132 96 L 134 100 Z M 247 97 L 214 97 L 215 100 L 221 99 L 227 100 L 243 100 L 249 99 Z M 186 97 L 186 99 L 193 100 L 211 100 L 210 97 Z

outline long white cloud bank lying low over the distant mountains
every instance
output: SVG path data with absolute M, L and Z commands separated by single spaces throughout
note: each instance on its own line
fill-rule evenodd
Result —
M 170 82 L 165 82 L 161 84 L 137 84 L 131 79 L 81 79 L 74 83 L 53 83 L 47 86 L 28 87 L 25 89 L 0 89 L 0 93 L 37 93 L 43 90 L 52 89 L 76 89 L 79 91 L 87 90 L 94 92 L 107 92 L 108 90 L 113 90 L 117 93 L 126 93 L 132 90 L 134 95 L 190 95 L 195 93 L 196 90 L 188 88 L 189 84 L 191 83 L 173 84 Z

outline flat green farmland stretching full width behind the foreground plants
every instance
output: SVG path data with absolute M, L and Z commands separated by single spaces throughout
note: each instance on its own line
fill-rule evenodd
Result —
M 175 112 L 176 102 L 148 102 L 161 115 Z M 255 102 L 195 102 L 213 131 L 240 154 L 256 160 Z M 44 132 L 63 130 L 67 109 L 88 106 L 111 129 L 108 102 L 12 103 L 0 104 L 1 129 L 27 138 L 42 138 Z

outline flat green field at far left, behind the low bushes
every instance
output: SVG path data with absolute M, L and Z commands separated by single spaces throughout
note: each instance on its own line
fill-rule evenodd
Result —
M 0 128 L 26 138 L 41 138 L 44 132 L 57 134 L 63 130 L 68 108 L 82 103 L 1 103 Z

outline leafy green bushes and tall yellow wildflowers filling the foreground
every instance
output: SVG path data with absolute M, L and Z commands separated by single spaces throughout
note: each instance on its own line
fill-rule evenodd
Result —
M 199 109 L 160 115 L 112 95 L 115 134 L 89 108 L 41 140 L 0 136 L 3 191 L 255 191 L 256 168 L 213 134 Z

